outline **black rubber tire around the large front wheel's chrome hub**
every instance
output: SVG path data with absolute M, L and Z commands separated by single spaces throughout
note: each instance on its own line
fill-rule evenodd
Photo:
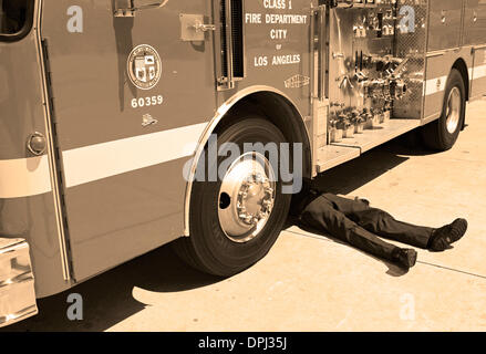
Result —
M 238 144 L 242 152 L 244 143 L 280 144 L 286 138 L 270 122 L 248 115 L 218 134 L 218 146 L 226 142 Z M 218 157 L 218 166 L 224 159 Z M 190 237 L 173 242 L 176 253 L 193 268 L 219 277 L 234 275 L 261 260 L 277 241 L 289 212 L 291 195 L 281 192 L 281 178 L 278 180 L 275 207 L 267 225 L 257 238 L 246 243 L 230 240 L 219 225 L 221 181 L 195 181 L 190 196 Z

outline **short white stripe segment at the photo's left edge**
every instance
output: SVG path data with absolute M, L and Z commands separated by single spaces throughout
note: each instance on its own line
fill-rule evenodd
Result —
M 22 198 L 52 190 L 48 156 L 0 160 L 0 198 Z

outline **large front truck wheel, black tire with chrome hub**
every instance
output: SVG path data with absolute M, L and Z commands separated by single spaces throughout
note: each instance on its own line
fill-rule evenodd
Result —
M 261 149 L 244 146 L 276 143 L 280 150 L 286 138 L 273 124 L 255 115 L 238 119 L 218 135 L 218 148 L 225 143 L 235 144 L 239 153 L 218 156 L 217 166 L 210 166 L 209 158 L 199 162 L 198 169 L 205 166 L 206 176 L 210 168 L 218 168 L 219 177 L 217 181 L 194 181 L 190 237 L 173 244 L 194 268 L 230 277 L 268 253 L 287 219 L 291 195 L 282 194 L 279 162 Z M 208 147 L 205 153 L 207 156 Z

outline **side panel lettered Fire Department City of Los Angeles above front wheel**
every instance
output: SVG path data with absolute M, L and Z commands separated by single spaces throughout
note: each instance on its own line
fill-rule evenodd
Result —
M 246 76 L 235 90 L 220 92 L 219 105 L 238 91 L 266 85 L 288 95 L 302 117 L 310 116 L 312 2 L 245 0 Z

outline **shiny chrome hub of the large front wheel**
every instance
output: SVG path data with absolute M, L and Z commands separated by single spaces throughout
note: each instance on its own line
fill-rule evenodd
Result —
M 219 190 L 219 225 L 235 242 L 248 242 L 270 218 L 276 198 L 276 178 L 268 159 L 248 153 L 236 159 Z

